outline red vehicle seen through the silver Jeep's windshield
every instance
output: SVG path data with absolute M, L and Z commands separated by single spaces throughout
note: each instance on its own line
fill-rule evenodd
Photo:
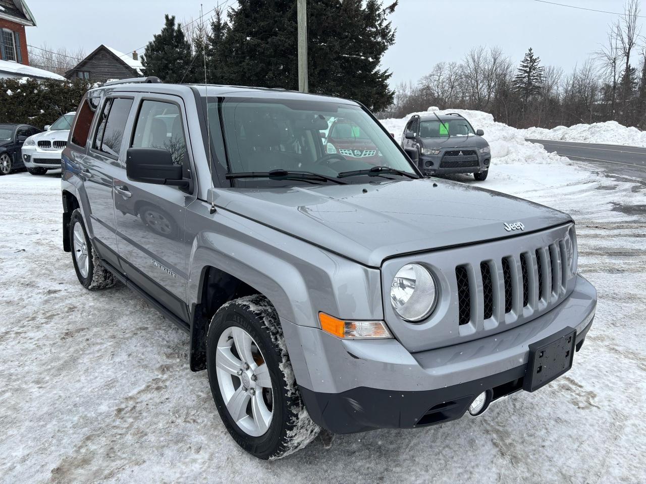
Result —
M 359 126 L 348 119 L 337 119 L 329 128 L 328 154 L 339 153 L 349 160 L 360 158 L 370 165 L 382 165 L 381 153 L 370 137 L 364 134 Z

